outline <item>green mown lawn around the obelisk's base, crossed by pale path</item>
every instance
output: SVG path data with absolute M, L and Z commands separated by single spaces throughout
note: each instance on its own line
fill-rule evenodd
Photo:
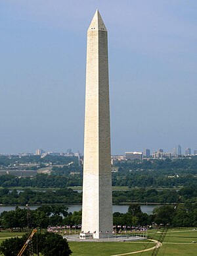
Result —
M 1 241 L 14 236 L 21 237 L 22 232 L 0 232 Z M 157 240 L 160 231 L 150 230 L 148 238 Z M 196 241 L 196 243 L 192 243 Z M 69 242 L 72 249 L 72 256 L 110 256 L 123 255 L 123 253 L 131 253 L 154 247 L 156 243 L 150 240 L 131 241 L 131 242 Z M 165 236 L 164 243 L 160 247 L 159 255 L 195 255 L 197 252 L 197 228 L 176 228 L 171 229 Z M 135 253 L 135 255 L 147 256 L 151 255 L 151 251 L 143 251 L 143 253 Z M 133 253 L 132 253 L 133 254 Z M 127 254 L 131 255 L 131 254 Z

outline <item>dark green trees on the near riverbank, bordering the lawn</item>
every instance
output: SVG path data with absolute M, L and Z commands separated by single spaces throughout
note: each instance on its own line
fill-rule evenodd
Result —
M 16 207 L 15 210 L 2 212 L 1 228 L 12 230 L 17 228 L 21 231 L 26 229 L 27 211 Z M 32 228 L 41 229 L 64 225 L 69 226 L 69 230 L 76 230 L 76 227 L 81 228 L 81 215 L 81 210 L 71 213 L 64 205 L 47 205 L 31 210 L 31 225 Z M 114 212 L 113 223 L 116 229 L 131 229 L 131 227 L 152 226 L 152 224 L 158 226 L 168 224 L 174 227 L 197 226 L 197 203 L 181 203 L 177 208 L 172 205 L 156 207 L 150 215 L 142 212 L 140 205 L 132 204 L 126 213 Z

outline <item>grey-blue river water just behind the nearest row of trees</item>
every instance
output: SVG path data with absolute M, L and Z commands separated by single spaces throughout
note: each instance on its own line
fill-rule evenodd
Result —
M 66 205 L 68 207 L 68 212 L 74 212 L 75 210 L 81 210 L 81 205 Z M 147 214 L 151 214 L 152 210 L 155 207 L 159 207 L 161 205 L 141 205 L 141 210 L 142 212 L 145 212 Z M 20 208 L 25 208 L 25 206 L 18 206 Z M 30 206 L 31 210 L 35 210 L 37 207 L 39 207 L 38 205 L 33 205 Z M 1 212 L 3 212 L 4 210 L 9 211 L 9 210 L 15 210 L 16 206 L 0 206 L 0 214 Z M 121 212 L 121 213 L 126 213 L 127 210 L 129 208 L 129 205 L 113 205 L 113 212 Z

